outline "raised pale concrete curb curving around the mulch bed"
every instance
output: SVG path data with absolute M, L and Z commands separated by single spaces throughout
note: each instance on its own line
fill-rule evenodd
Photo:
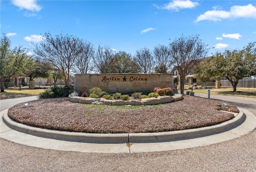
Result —
M 49 130 L 18 123 L 8 116 L 7 111 L 3 115 L 3 121 L 9 128 L 16 130 L 18 132 L 23 132 L 38 137 L 51 138 L 56 140 L 98 144 L 120 144 L 126 142 L 154 143 L 199 138 L 236 128 L 237 126 L 242 124 L 246 119 L 244 112 L 242 112 L 240 108 L 238 109 L 239 113 L 236 117 L 226 122 L 222 122 L 221 124 L 216 124 L 214 126 L 207 126 L 203 128 L 194 128 L 188 130 L 159 133 L 93 134 Z

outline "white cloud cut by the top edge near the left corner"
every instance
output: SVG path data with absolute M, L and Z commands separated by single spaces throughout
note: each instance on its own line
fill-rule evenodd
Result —
M 18 6 L 20 10 L 26 9 L 30 11 L 40 11 L 41 6 L 36 4 L 36 0 L 12 0 L 12 4 Z

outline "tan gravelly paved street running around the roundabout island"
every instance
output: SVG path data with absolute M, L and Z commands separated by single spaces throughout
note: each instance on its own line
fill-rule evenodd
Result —
M 198 94 L 205 96 L 207 94 Z M 256 115 L 256 99 L 211 95 Z M 7 99 L 5 99 L 7 100 Z M 1 100 L 2 104 L 5 100 Z M 9 101 L 15 102 L 16 100 Z M 12 106 L 12 105 L 11 105 Z M 100 146 L 100 144 L 99 144 Z M 0 171 L 256 171 L 256 130 L 239 138 L 196 148 L 147 153 L 82 153 L 47 150 L 0 138 Z

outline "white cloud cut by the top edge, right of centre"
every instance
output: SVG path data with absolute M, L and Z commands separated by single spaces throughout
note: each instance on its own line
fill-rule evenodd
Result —
M 179 11 L 182 8 L 194 8 L 195 6 L 198 6 L 198 2 L 192 2 L 190 0 L 173 0 L 167 4 L 164 4 L 164 6 L 156 6 L 156 8 L 161 8 L 165 10 L 174 10 Z

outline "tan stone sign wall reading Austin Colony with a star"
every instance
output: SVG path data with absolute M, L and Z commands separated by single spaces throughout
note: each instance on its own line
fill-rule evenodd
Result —
M 106 92 L 153 90 L 173 86 L 172 74 L 76 74 L 75 90 L 89 92 L 99 87 Z

